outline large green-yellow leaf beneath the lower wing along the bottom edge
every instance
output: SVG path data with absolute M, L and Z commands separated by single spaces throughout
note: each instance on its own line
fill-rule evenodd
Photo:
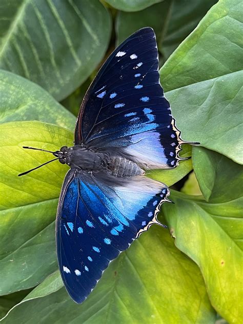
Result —
M 210 324 L 215 322 L 215 312 L 197 266 L 174 247 L 167 230 L 153 226 L 110 264 L 82 305 L 76 305 L 63 288 L 22 302 L 3 323 L 21 324 L 36 318 L 42 318 L 42 323 L 134 323 L 142 319 L 146 323 Z

